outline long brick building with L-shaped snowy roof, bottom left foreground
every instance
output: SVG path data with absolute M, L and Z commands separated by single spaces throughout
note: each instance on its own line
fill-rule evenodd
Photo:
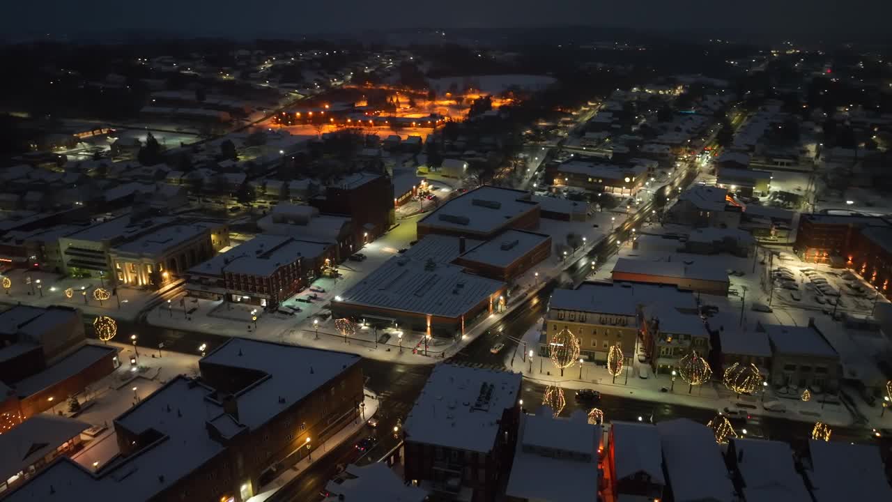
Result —
M 114 421 L 120 455 L 94 472 L 60 458 L 6 500 L 244 502 L 351 423 L 359 356 L 231 339 Z M 518 379 L 519 383 L 519 379 Z

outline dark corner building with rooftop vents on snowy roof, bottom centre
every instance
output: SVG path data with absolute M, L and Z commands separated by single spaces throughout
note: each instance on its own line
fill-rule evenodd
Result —
M 508 479 L 520 373 L 438 364 L 403 426 L 406 481 L 491 501 Z

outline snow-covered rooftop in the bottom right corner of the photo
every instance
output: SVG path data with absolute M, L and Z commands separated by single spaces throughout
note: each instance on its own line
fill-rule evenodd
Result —
M 806 469 L 805 475 L 816 502 L 892 500 L 892 487 L 876 445 L 812 439 L 808 449 L 812 468 Z

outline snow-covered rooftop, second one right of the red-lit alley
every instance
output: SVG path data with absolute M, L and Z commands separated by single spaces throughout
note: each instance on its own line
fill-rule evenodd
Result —
M 663 460 L 676 502 L 733 502 L 722 451 L 706 425 L 687 418 L 657 423 Z

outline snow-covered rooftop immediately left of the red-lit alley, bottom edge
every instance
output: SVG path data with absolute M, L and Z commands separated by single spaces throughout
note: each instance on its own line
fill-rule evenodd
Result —
M 596 498 L 601 428 L 589 424 L 584 413 L 565 419 L 548 410 L 521 415 L 520 420 L 520 440 L 505 494 L 550 502 Z

